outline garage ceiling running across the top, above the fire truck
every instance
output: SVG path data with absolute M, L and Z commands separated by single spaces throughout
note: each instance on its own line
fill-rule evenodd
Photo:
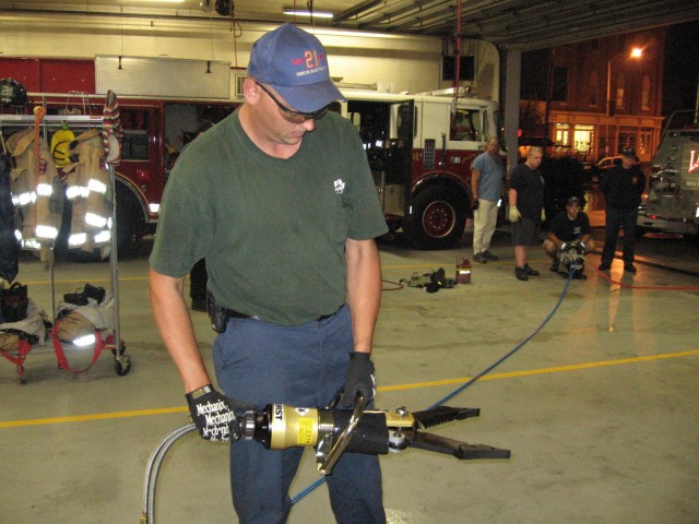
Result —
M 221 1 L 221 0 L 218 0 Z M 32 16 L 70 13 L 99 16 L 222 19 L 217 0 L 0 0 L 0 14 Z M 534 50 L 619 33 L 699 20 L 696 0 L 235 0 L 235 19 L 294 21 L 284 8 L 330 12 L 317 27 L 482 38 L 506 49 Z M 209 12 L 202 4 L 211 8 Z M 296 23 L 309 24 L 308 16 Z

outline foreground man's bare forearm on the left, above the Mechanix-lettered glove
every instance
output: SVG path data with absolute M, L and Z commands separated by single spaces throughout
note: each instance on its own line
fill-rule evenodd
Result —
M 149 276 L 149 296 L 153 317 L 170 358 L 177 366 L 185 392 L 211 383 L 194 338 L 185 303 L 183 278 L 173 278 L 153 270 Z

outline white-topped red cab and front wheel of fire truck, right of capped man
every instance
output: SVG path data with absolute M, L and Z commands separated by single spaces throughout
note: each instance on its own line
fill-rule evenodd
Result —
M 472 215 L 471 163 L 491 136 L 505 143 L 498 105 L 451 90 L 343 94 L 391 230 L 422 249 L 453 247 Z

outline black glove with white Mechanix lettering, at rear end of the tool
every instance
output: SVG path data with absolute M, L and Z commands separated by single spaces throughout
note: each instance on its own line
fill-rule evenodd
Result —
M 236 402 L 206 384 L 185 395 L 189 414 L 199 434 L 212 442 L 240 439 L 240 420 L 235 412 L 254 409 L 252 404 Z

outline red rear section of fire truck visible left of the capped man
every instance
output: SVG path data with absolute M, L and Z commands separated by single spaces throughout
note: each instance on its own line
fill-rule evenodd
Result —
M 95 94 L 92 60 L 2 57 L 0 78 L 12 78 L 28 92 L 27 107 L 14 110 L 31 114 L 34 106 L 43 105 L 47 115 L 102 116 L 105 97 Z M 230 100 L 119 96 L 123 127 L 115 188 L 119 252 L 133 249 L 155 230 L 165 182 L 182 146 L 196 136 L 202 122 L 217 122 L 238 105 Z M 49 127 L 48 131 L 58 129 Z M 74 130 L 75 134 L 79 131 Z

